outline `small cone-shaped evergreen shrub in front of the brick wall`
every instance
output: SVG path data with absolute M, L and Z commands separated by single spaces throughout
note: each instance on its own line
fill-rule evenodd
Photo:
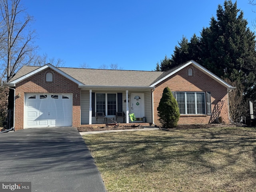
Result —
M 176 127 L 180 118 L 180 110 L 170 88 L 164 88 L 157 108 L 159 121 L 165 128 Z

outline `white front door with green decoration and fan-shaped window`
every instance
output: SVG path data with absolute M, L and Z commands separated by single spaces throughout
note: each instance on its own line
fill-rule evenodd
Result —
M 144 93 L 132 93 L 132 113 L 136 118 L 145 116 Z

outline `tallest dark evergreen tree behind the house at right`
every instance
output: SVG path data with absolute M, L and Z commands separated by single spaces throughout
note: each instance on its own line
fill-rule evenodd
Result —
M 244 94 L 250 97 L 255 85 L 256 36 L 247 27 L 236 2 L 225 0 L 224 9 L 218 5 L 216 16 L 211 18 L 210 27 L 201 32 L 201 64 L 220 77 L 239 78 Z

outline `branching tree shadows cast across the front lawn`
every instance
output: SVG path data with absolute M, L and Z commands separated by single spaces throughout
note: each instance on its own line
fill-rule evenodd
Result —
M 84 138 L 90 150 L 97 153 L 96 162 L 114 170 L 140 168 L 145 163 L 150 167 L 145 171 L 156 172 L 176 164 L 202 175 L 223 172 L 233 174 L 234 179 L 241 175 L 244 179 L 256 177 L 255 129 L 122 132 Z

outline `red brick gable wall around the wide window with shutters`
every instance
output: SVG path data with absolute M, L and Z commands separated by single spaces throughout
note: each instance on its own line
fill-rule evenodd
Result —
M 192 68 L 193 76 L 188 76 L 188 68 Z M 228 94 L 227 88 L 210 78 L 196 67 L 189 65 L 186 68 L 180 70 L 176 74 L 170 76 L 163 82 L 156 85 L 154 91 L 154 122 L 160 125 L 158 120 L 157 107 L 164 88 L 169 87 L 171 91 L 182 92 L 211 92 L 211 109 L 213 111 L 214 106 L 219 100 L 225 100 L 225 104 L 222 107 L 222 118 L 224 122 L 228 122 Z M 215 120 L 215 119 L 214 119 Z M 212 122 L 211 115 L 180 115 L 178 124 L 208 124 Z

